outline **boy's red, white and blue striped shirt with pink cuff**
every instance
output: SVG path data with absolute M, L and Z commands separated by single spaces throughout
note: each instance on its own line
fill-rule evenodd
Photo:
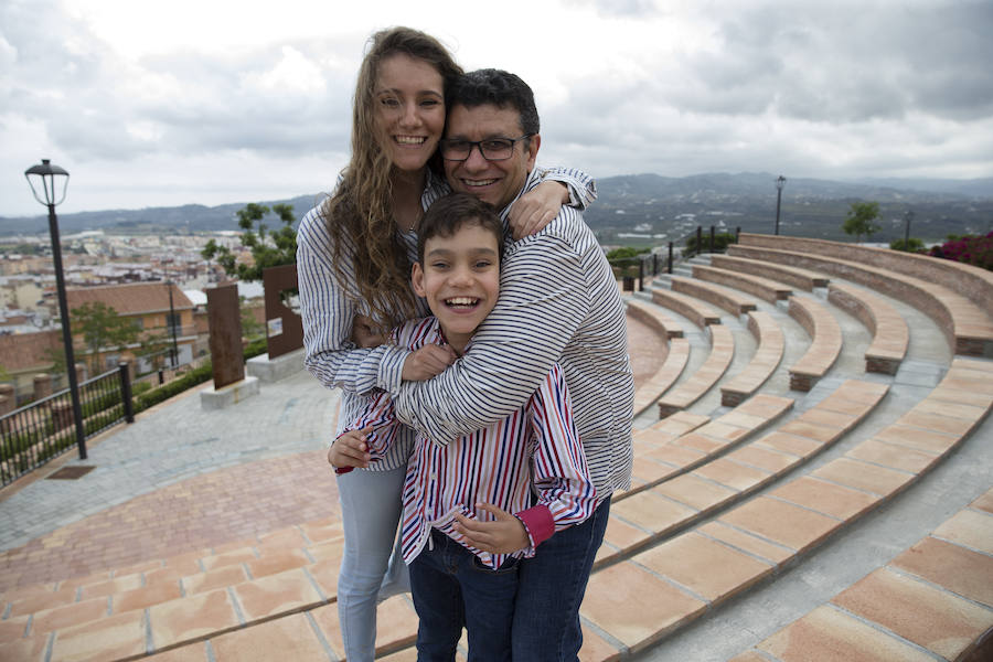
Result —
M 407 322 L 394 331 L 393 342 L 410 350 L 429 342 L 446 344 L 435 318 Z M 375 459 L 387 452 L 402 425 L 388 393 L 372 398 L 345 430 L 370 425 L 367 445 Z M 444 446 L 418 435 L 407 462 L 403 501 L 403 552 L 408 564 L 430 540 L 431 528 L 496 569 L 511 556 L 533 556 L 534 548 L 556 531 L 589 517 L 597 505 L 596 490 L 558 364 L 527 403 L 503 420 Z M 467 544 L 452 526 L 456 513 L 492 520 L 476 510 L 477 503 L 513 513 L 524 523 L 531 545 L 513 554 L 490 554 Z

